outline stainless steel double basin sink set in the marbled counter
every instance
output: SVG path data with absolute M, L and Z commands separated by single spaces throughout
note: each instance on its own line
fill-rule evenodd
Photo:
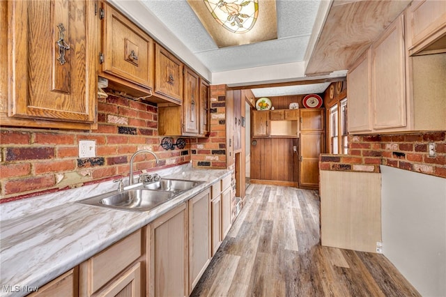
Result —
M 107 192 L 80 200 L 79 203 L 128 211 L 150 211 L 183 192 L 201 185 L 201 183 L 204 182 L 161 178 L 159 181 L 150 183 L 129 185 L 123 190 Z

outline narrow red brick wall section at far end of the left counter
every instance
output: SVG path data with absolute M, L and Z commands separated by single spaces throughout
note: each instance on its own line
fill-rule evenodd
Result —
M 210 86 L 210 135 L 192 139 L 192 164 L 198 168 L 226 168 L 226 85 Z

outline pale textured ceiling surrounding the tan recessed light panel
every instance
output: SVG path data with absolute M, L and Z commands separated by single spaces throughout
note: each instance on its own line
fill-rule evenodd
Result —
M 142 1 L 212 73 L 304 61 L 320 4 L 277 0 L 277 40 L 219 49 L 186 0 Z

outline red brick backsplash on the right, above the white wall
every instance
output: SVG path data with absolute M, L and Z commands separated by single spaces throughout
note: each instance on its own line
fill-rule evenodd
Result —
M 433 143 L 436 156 L 429 157 Z M 321 170 L 379 172 L 379 165 L 446 177 L 446 132 L 350 135 L 348 155 L 322 154 Z

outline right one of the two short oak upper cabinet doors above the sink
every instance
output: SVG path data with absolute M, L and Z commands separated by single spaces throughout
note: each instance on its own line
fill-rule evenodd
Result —
M 155 43 L 155 93 L 178 105 L 183 103 L 183 63 Z

